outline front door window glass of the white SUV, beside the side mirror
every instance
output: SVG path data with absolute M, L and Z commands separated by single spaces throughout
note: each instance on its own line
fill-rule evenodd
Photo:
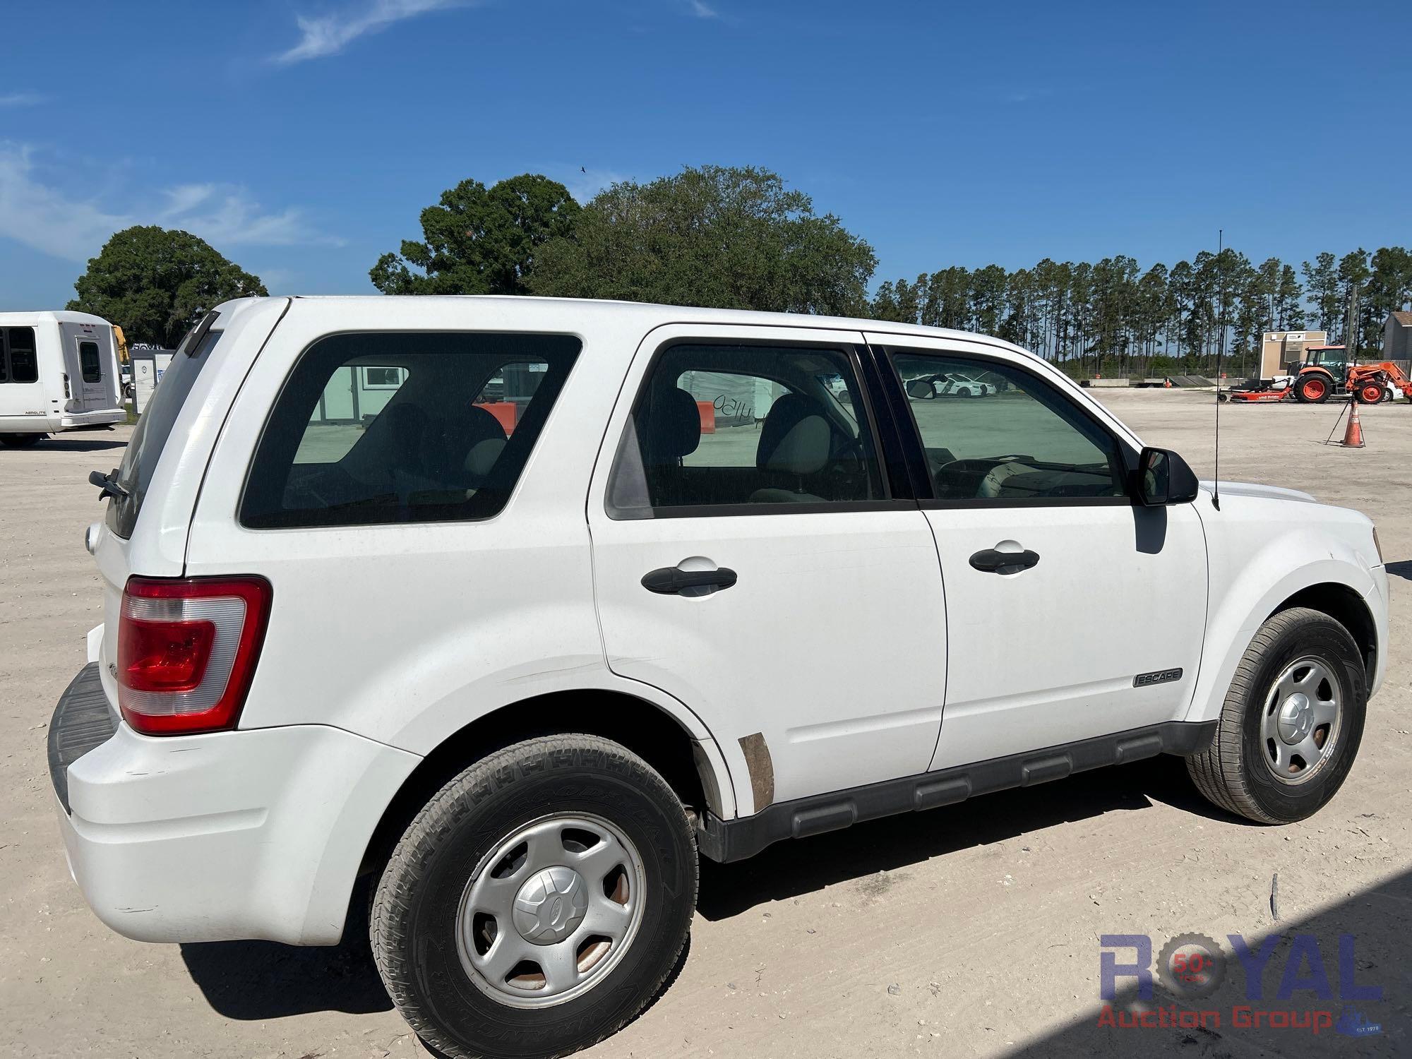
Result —
M 939 500 L 1123 496 L 1115 439 L 1017 367 L 897 352 Z

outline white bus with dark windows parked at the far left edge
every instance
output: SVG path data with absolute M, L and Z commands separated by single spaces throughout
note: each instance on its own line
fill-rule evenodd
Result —
M 113 325 L 86 312 L 0 312 L 0 445 L 123 422 Z

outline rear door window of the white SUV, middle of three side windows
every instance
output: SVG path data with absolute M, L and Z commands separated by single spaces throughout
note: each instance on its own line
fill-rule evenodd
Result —
M 669 346 L 633 408 L 609 514 L 881 500 L 861 408 L 842 350 Z

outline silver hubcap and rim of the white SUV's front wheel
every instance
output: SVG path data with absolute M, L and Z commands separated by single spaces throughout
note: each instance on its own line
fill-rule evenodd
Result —
M 1309 779 L 1333 753 L 1339 738 L 1343 688 L 1317 658 L 1285 666 L 1265 700 L 1260 737 L 1265 764 L 1284 784 Z

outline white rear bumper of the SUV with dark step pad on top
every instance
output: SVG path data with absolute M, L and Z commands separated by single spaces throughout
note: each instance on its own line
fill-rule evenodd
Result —
M 51 744 L 71 755 L 102 734 L 79 734 L 99 724 L 96 681 L 85 666 L 55 709 Z M 51 772 L 69 870 L 112 929 L 335 945 L 373 829 L 419 761 L 312 724 L 154 738 L 113 723 L 69 761 L 51 753 Z

